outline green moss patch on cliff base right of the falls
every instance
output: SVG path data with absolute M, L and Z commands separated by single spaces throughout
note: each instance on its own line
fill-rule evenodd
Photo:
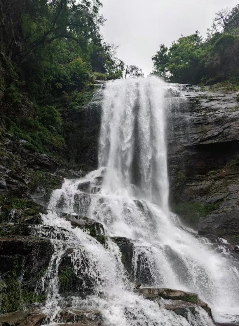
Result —
M 216 204 L 184 202 L 175 205 L 174 212 L 182 217 L 188 225 L 197 227 L 200 218 L 206 217 L 218 209 L 220 204 L 221 202 Z

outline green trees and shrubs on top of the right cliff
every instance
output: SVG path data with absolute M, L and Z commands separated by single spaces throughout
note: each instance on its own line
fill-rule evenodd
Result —
M 181 36 L 168 48 L 161 44 L 152 57 L 153 74 L 170 82 L 239 84 L 239 4 L 217 13 L 204 39 L 199 31 Z

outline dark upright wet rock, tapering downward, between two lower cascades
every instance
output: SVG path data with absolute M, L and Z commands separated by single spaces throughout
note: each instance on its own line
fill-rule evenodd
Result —
M 122 255 L 122 263 L 127 271 L 128 277 L 131 279 L 134 244 L 132 240 L 124 237 L 112 237 L 111 239 L 119 246 Z

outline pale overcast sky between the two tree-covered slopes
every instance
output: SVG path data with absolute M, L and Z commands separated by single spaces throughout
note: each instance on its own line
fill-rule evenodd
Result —
M 160 44 L 167 46 L 181 34 L 199 30 L 206 36 L 215 12 L 234 7 L 239 0 L 101 0 L 107 22 L 106 41 L 119 45 L 117 55 L 127 65 L 137 65 L 145 75 Z

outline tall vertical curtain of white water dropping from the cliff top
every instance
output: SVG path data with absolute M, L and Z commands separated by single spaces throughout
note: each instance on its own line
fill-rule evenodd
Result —
M 109 82 L 105 90 L 99 166 L 107 167 L 103 188 L 137 186 L 144 199 L 168 211 L 165 84 L 157 78 Z

